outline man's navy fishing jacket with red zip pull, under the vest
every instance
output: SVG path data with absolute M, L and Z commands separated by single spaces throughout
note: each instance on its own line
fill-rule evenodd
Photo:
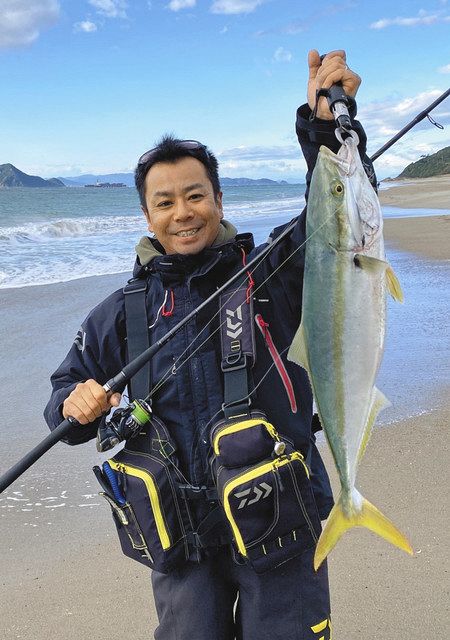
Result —
M 334 136 L 334 122 L 310 122 L 309 113 L 307 105 L 297 112 L 297 134 L 308 162 L 308 183 L 319 145 L 326 144 L 335 150 L 340 146 Z M 363 155 L 366 138 L 359 123 L 355 122 L 354 126 Z M 368 163 L 367 158 L 365 161 Z M 256 326 L 255 323 L 257 355 L 252 378 L 256 392 L 252 395 L 252 407 L 264 411 L 275 428 L 307 456 L 317 506 L 324 519 L 331 510 L 333 499 L 325 467 L 314 444 L 311 389 L 306 372 L 286 358 L 300 323 L 305 220 L 304 210 L 292 232 L 253 273 L 254 312 L 259 324 Z M 269 242 L 283 229 L 276 228 Z M 239 234 L 197 255 L 160 255 L 145 266 L 137 259 L 134 277 L 148 280 L 149 324 L 155 321 L 167 291 L 173 293 L 174 299 L 172 315 L 160 315 L 150 330 L 150 343 L 159 340 L 242 267 L 242 249 L 247 260 L 251 260 L 264 246 L 255 248 L 251 234 Z M 158 248 L 162 250 L 160 246 Z M 287 262 L 283 264 L 285 260 Z M 283 266 L 279 268 L 280 265 Z M 214 417 L 221 417 L 224 399 L 220 332 L 214 333 L 219 320 L 216 318 L 206 331 L 201 332 L 218 308 L 219 302 L 215 301 L 191 320 L 150 364 L 153 386 L 167 378 L 153 397 L 153 412 L 167 425 L 177 446 L 181 468 L 194 485 L 211 485 L 208 477 L 209 430 Z M 208 336 L 210 339 L 206 339 Z M 283 374 L 273 366 L 274 349 L 284 364 Z M 182 362 L 191 354 L 183 365 Z M 180 362 L 172 371 L 180 356 Z M 104 384 L 126 363 L 124 293 L 120 289 L 91 311 L 66 358 L 53 374 L 53 392 L 45 409 L 50 429 L 62 421 L 62 404 L 79 382 L 93 378 Z M 74 427 L 66 442 L 79 444 L 94 438 L 100 421 L 104 419 L 99 418 L 84 427 Z M 132 440 L 128 446 L 132 448 Z

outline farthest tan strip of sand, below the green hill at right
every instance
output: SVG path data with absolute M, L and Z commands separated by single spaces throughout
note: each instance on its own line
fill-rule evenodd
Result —
M 393 186 L 382 189 L 379 196 L 383 205 L 450 212 L 450 175 L 396 181 Z

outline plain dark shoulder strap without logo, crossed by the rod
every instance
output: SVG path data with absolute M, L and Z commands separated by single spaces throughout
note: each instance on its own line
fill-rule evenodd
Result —
M 123 289 L 127 328 L 128 362 L 150 346 L 147 319 L 147 280 L 133 278 Z M 128 383 L 130 399 L 145 398 L 150 391 L 150 364 L 142 367 Z

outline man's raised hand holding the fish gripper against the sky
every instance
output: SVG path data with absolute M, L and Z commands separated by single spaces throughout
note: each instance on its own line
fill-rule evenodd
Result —
M 312 49 L 308 54 L 309 80 L 308 104 L 311 111 L 316 104 L 316 91 L 329 89 L 336 82 L 341 82 L 345 93 L 354 98 L 361 84 L 361 78 L 348 68 L 345 51 L 331 51 L 323 61 L 320 61 L 318 51 Z M 327 99 L 319 98 L 317 117 L 322 120 L 333 120 L 333 114 L 328 108 Z

